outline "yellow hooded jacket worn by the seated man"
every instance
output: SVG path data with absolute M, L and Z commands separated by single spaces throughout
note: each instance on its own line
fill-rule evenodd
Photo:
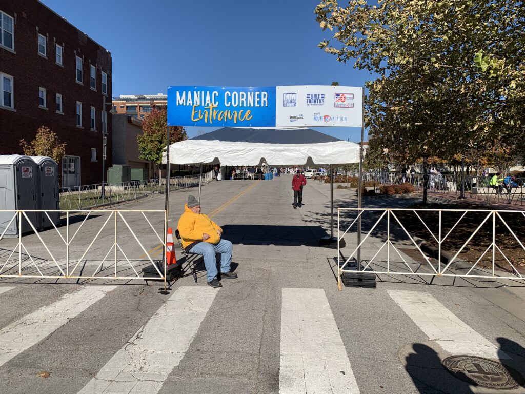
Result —
M 221 232 L 223 231 L 223 229 L 221 229 L 213 220 L 209 219 L 208 216 L 202 213 L 193 213 L 192 210 L 188 208 L 187 204 L 184 204 L 184 213 L 182 214 L 181 219 L 178 220 L 177 229 L 181 234 L 182 247 L 184 247 L 184 249 L 197 242 L 216 244 L 220 241 L 220 236 L 217 234 L 217 230 L 220 230 Z M 204 233 L 209 235 L 209 238 L 206 241 L 203 241 L 202 239 Z

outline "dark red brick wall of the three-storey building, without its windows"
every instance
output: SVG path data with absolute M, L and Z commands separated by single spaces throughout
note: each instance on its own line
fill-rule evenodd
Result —
M 14 107 L 0 107 L 0 154 L 23 154 L 20 139 L 31 141 L 47 126 L 67 142 L 66 155 L 81 158 L 81 184 L 101 182 L 101 71 L 108 74 L 106 102 L 111 103 L 111 54 L 36 0 L 2 0 L 0 10 L 14 20 L 15 53 L 0 46 L 0 72 L 14 77 Z M 38 28 L 38 30 L 37 30 Z M 47 59 L 38 54 L 38 33 L 47 37 Z M 64 47 L 63 67 L 55 63 L 55 42 Z M 83 85 L 76 82 L 76 56 L 83 58 Z M 90 63 L 96 65 L 96 89 L 90 88 Z M 39 108 L 39 87 L 46 89 L 47 110 Z M 62 95 L 64 115 L 56 113 L 56 94 Z M 82 126 L 76 127 L 76 102 L 82 102 Z M 96 129 L 90 130 L 90 108 L 96 108 Z M 106 110 L 109 111 L 108 105 Z M 108 113 L 108 156 L 111 163 L 111 114 Z M 91 148 L 97 161 L 91 161 Z M 61 166 L 61 164 L 60 164 Z

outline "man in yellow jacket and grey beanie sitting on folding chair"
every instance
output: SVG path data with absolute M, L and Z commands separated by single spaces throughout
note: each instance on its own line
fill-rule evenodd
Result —
M 201 213 L 201 203 L 193 195 L 188 196 L 184 213 L 178 220 L 178 232 L 181 234 L 184 250 L 201 254 L 206 266 L 206 279 L 212 287 L 222 287 L 217 279 L 217 260 L 215 253 L 220 253 L 220 278 L 235 279 L 237 274 L 230 271 L 232 263 L 232 243 L 220 239 L 223 230 L 208 216 Z

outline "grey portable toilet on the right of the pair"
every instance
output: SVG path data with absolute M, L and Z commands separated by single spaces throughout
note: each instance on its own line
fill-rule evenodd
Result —
M 37 185 L 37 209 L 43 211 L 60 209 L 60 193 L 58 191 L 58 164 L 47 156 L 31 157 L 38 165 Z M 47 217 L 49 215 L 49 217 Z M 60 212 L 38 212 L 37 220 L 40 229 L 60 224 Z M 49 220 L 51 218 L 51 220 Z

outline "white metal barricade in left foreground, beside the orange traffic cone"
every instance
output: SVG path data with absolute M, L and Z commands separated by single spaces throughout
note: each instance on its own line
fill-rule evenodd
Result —
M 47 230 L 36 214 L 47 216 Z M 161 210 L 1 210 L 0 277 L 143 281 L 142 268 L 152 265 L 158 275 L 147 279 L 165 281 L 166 226 Z

